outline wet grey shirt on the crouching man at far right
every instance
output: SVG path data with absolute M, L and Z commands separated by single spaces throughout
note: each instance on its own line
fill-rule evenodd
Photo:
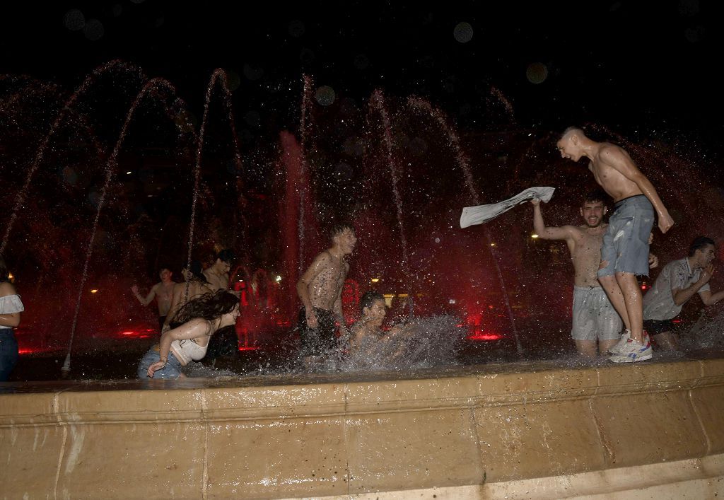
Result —
M 671 291 L 674 288 L 689 288 L 699 280 L 702 270 L 698 267 L 691 270 L 689 259 L 669 262 L 664 266 L 654 281 L 654 286 L 644 295 L 644 320 L 673 320 L 681 312 L 681 305 L 676 305 Z M 699 288 L 699 293 L 708 291 L 709 283 Z

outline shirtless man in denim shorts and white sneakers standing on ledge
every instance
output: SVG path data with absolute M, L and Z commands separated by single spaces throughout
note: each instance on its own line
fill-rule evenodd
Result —
M 601 249 L 598 278 L 626 331 L 610 349 L 613 362 L 636 362 L 652 358 L 650 342 L 644 343 L 643 298 L 636 275 L 649 275 L 649 234 L 654 210 L 659 229 L 666 233 L 673 219 L 654 186 L 633 163 L 628 153 L 612 143 L 596 142 L 580 128 L 567 128 L 556 143 L 563 158 L 590 160 L 599 186 L 615 201 Z

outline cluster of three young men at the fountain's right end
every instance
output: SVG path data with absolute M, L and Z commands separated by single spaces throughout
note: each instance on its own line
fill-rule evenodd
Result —
M 652 359 L 652 339 L 663 350 L 678 349 L 673 320 L 686 301 L 699 293 L 704 305 L 724 299 L 712 293 L 715 241 L 698 236 L 686 257 L 666 264 L 642 296 L 637 276 L 648 276 L 658 259 L 649 252 L 654 217 L 667 233 L 673 219 L 652 183 L 628 153 L 612 143 L 586 137 L 580 128 L 566 129 L 557 141 L 564 158 L 586 157 L 589 170 L 603 188 L 588 193 L 581 204 L 583 225 L 558 228 L 544 224 L 540 200 L 533 199 L 533 225 L 540 238 L 565 240 L 573 261 L 573 326 L 579 354 L 605 355 L 612 362 Z M 607 224 L 606 193 L 614 209 Z

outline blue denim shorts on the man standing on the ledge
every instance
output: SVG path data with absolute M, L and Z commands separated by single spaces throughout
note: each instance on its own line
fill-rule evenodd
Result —
M 601 262 L 608 264 L 598 270 L 598 277 L 616 272 L 649 275 L 649 235 L 654 227 L 654 207 L 639 194 L 615 204 L 603 236 Z

